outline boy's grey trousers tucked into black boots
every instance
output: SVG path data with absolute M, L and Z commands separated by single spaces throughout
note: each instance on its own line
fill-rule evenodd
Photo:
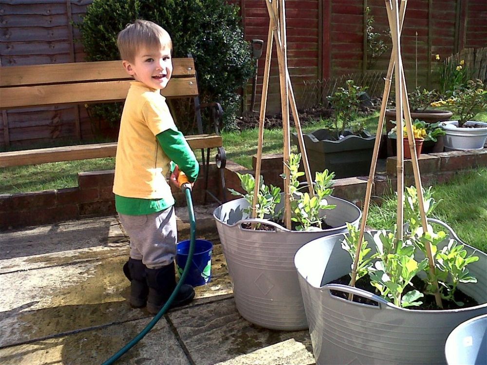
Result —
M 174 207 L 143 216 L 119 214 L 130 237 L 130 257 L 150 269 L 169 265 L 176 257 L 177 226 Z

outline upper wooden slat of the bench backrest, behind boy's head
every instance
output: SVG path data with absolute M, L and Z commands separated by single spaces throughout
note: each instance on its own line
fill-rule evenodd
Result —
M 173 58 L 172 77 L 194 76 L 192 58 Z M 122 61 L 57 63 L 0 67 L 0 87 L 73 83 L 85 80 L 130 80 Z

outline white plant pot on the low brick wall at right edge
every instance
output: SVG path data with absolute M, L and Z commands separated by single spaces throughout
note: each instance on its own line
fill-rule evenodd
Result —
M 468 121 L 466 125 L 481 124 L 483 128 L 458 128 L 458 121 L 441 122 L 440 126 L 447 133 L 444 137 L 446 151 L 482 149 L 487 140 L 487 123 Z

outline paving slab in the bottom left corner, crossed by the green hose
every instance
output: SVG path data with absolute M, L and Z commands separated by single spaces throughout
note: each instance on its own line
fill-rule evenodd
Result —
M 148 322 L 147 319 L 140 319 L 1 348 L 1 364 L 101 364 L 139 334 Z M 132 347 L 116 364 L 189 365 L 190 362 L 170 325 L 162 318 L 142 341 Z

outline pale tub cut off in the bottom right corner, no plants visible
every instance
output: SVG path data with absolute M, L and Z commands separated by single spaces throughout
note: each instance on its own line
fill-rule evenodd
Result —
M 445 344 L 448 365 L 487 364 L 487 314 L 453 329 Z

